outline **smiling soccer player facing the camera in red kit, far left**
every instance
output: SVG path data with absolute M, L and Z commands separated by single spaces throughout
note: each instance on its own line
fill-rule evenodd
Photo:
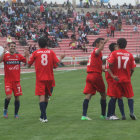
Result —
M 6 98 L 4 102 L 4 118 L 8 117 L 8 105 L 12 98 L 12 92 L 15 97 L 15 118 L 19 118 L 18 111 L 20 108 L 19 96 L 22 95 L 22 89 L 20 85 L 20 63 L 26 63 L 25 57 L 16 52 L 16 43 L 11 42 L 9 44 L 9 52 L 4 51 L 0 58 L 0 62 L 4 62 L 4 82 Z

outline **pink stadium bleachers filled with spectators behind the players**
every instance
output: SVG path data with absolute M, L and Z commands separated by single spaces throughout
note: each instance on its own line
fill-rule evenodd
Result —
M 48 46 L 57 56 L 65 54 L 67 57 L 88 57 L 93 50 L 93 42 L 98 37 L 109 37 L 103 55 L 109 53 L 108 45 L 116 42 L 120 37 L 128 41 L 127 49 L 137 55 L 139 46 L 140 12 L 130 5 L 125 8 L 102 10 L 88 9 L 98 5 L 88 3 L 74 8 L 70 2 L 60 7 L 57 3 L 39 1 L 25 4 L 0 2 L 0 45 L 5 46 L 15 41 L 19 53 L 24 53 L 28 46 L 30 53 L 35 51 L 38 38 L 48 38 Z M 65 8 L 63 8 L 65 6 Z M 133 9 L 130 9 L 133 8 Z

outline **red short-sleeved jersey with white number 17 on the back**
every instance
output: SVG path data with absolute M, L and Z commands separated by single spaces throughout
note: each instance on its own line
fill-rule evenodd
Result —
M 134 57 L 125 49 L 111 53 L 108 62 L 113 64 L 113 74 L 118 76 L 119 82 L 131 81 L 131 70 L 136 67 Z

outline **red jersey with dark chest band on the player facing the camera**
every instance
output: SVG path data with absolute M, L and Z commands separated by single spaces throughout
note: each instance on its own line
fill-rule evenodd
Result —
M 20 81 L 20 63 L 26 63 L 25 57 L 21 54 L 6 53 L 3 57 L 5 81 Z

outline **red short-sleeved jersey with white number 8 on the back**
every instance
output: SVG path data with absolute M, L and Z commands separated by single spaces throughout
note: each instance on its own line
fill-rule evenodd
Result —
M 29 65 L 35 62 L 36 80 L 54 80 L 53 67 L 59 62 L 56 54 L 49 49 L 41 48 L 32 53 Z

